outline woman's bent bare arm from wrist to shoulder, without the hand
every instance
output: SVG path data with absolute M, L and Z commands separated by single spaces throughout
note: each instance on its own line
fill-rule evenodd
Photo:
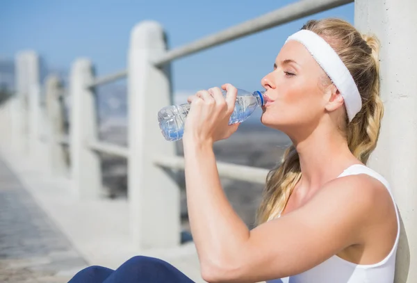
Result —
M 336 179 L 300 209 L 250 231 L 224 195 L 211 145 L 188 143 L 185 156 L 190 225 L 208 282 L 286 277 L 359 243 L 378 190 L 367 176 Z

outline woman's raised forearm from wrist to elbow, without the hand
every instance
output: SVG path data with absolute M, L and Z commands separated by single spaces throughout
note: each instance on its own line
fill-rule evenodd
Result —
M 232 260 L 250 232 L 224 194 L 213 147 L 211 143 L 188 142 L 184 156 L 188 216 L 200 261 L 217 265 Z

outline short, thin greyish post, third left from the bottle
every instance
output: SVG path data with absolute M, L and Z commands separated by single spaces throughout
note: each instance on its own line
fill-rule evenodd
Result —
M 62 175 L 67 170 L 67 162 L 60 138 L 64 136 L 64 114 L 62 104 L 63 87 L 56 75 L 45 80 L 46 109 L 48 121 L 49 163 L 51 172 Z

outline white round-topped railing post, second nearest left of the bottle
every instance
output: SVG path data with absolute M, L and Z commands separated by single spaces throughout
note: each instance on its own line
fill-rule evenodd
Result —
M 101 163 L 99 156 L 88 148 L 97 138 L 97 109 L 95 90 L 88 85 L 94 78 L 92 63 L 78 59 L 72 65 L 70 78 L 71 124 L 70 152 L 72 182 L 80 197 L 97 198 L 101 191 Z

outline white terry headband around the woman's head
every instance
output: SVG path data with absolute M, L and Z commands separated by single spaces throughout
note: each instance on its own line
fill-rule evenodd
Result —
M 286 42 L 288 40 L 300 42 L 311 53 L 311 56 L 341 92 L 345 100 L 347 118 L 349 118 L 349 122 L 352 121 L 354 115 L 357 115 L 362 108 L 362 99 L 352 75 L 336 51 L 320 35 L 306 29 L 297 31 L 288 37 Z

